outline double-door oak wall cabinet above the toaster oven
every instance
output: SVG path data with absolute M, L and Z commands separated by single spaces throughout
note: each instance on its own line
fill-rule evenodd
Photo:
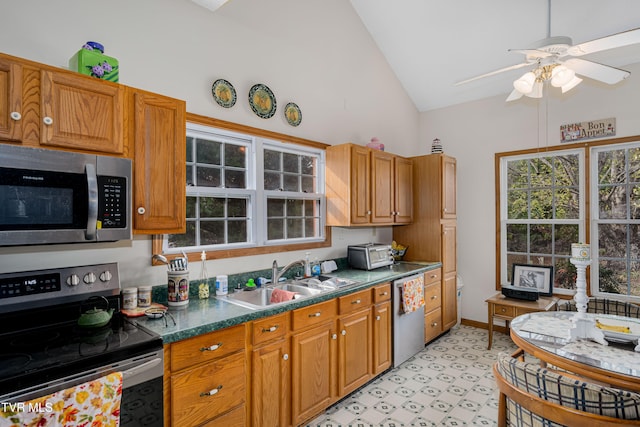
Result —
M 327 225 L 411 222 L 412 162 L 355 144 L 327 148 Z

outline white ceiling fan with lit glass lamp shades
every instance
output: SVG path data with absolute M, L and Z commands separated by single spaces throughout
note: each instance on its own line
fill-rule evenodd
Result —
M 532 69 L 530 71 L 513 82 L 514 90 L 507 98 L 507 101 L 514 101 L 523 95 L 531 98 L 541 98 L 543 85 L 549 81 L 552 86 L 560 87 L 562 93 L 565 93 L 582 82 L 582 79 L 578 77 L 578 75 L 608 84 L 615 84 L 626 79 L 631 74 L 626 70 L 599 64 L 579 57 L 590 53 L 640 43 L 640 28 L 573 45 L 569 37 L 549 36 L 551 28 L 550 11 L 551 0 L 549 0 L 549 29 L 547 31 L 547 38 L 533 43 L 527 49 L 509 49 L 509 52 L 524 54 L 524 62 L 460 81 L 456 83 L 456 86 L 505 71 L 531 67 Z

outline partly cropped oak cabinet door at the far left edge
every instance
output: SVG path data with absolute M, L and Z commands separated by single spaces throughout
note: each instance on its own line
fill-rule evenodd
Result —
M 0 58 L 0 139 L 22 138 L 22 66 Z

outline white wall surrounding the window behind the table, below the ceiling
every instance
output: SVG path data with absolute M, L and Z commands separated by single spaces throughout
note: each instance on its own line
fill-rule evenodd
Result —
M 551 88 L 540 101 L 506 103 L 505 92 L 421 115 L 422 153 L 437 137 L 444 151 L 457 158 L 458 273 L 465 283 L 465 319 L 486 322 L 484 300 L 496 292 L 494 154 L 559 145 L 561 125 L 611 117 L 616 119 L 616 137 L 640 135 L 640 64 L 624 68 L 631 77 L 614 87 L 585 79 L 562 97 Z

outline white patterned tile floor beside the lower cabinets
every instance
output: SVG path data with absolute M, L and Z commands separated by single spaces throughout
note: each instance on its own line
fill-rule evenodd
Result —
M 367 384 L 309 423 L 313 427 L 497 425 L 491 367 L 516 347 L 507 335 L 456 326 L 397 368 Z

